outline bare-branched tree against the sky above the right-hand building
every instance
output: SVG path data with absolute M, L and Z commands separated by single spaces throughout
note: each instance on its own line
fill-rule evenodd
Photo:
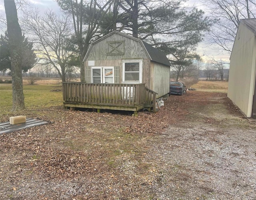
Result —
M 211 44 L 231 53 L 240 19 L 256 17 L 255 0 L 201 0 L 215 19 L 209 37 Z M 217 19 L 217 20 L 216 20 Z

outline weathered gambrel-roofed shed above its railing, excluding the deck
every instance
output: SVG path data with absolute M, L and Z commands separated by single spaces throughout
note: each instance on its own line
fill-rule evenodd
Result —
M 136 63 L 138 74 L 132 67 Z M 157 97 L 169 93 L 170 62 L 166 55 L 125 33 L 113 31 L 92 42 L 84 57 L 84 66 L 88 83 L 145 83 L 147 88 L 158 93 Z M 94 78 L 93 73 L 98 73 L 98 78 Z M 106 82 L 108 73 L 113 75 L 113 80 L 108 78 L 110 82 Z

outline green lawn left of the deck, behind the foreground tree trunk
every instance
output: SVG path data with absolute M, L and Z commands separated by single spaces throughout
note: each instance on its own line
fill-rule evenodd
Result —
M 62 104 L 62 91 L 52 90 L 62 89 L 60 85 L 23 85 L 26 109 L 36 107 L 47 108 L 50 106 L 60 106 Z M 12 109 L 12 84 L 0 84 L 0 114 L 7 114 Z

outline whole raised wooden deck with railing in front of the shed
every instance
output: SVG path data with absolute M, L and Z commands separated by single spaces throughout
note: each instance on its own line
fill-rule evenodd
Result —
M 93 84 L 63 82 L 63 101 L 66 108 L 94 108 L 134 111 L 152 105 L 156 112 L 156 92 L 145 84 Z

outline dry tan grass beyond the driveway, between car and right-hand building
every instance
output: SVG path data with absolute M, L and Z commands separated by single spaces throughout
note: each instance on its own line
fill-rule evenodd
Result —
M 200 80 L 198 83 L 191 86 L 202 92 L 228 92 L 228 82 L 223 81 L 205 81 Z

